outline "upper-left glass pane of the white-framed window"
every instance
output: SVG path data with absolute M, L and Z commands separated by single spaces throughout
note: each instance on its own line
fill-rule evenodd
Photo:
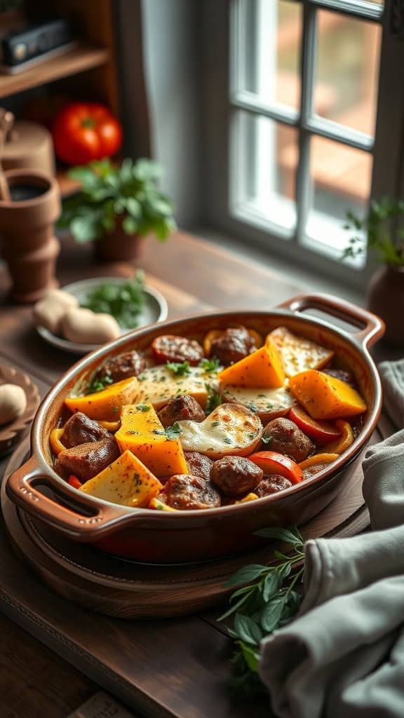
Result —
M 237 0 L 237 90 L 299 107 L 301 15 L 295 0 Z

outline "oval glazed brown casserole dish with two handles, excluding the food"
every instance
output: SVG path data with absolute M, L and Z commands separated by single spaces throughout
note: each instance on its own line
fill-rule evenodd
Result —
M 300 314 L 312 307 L 361 327 L 352 334 L 316 317 Z M 49 436 L 58 424 L 66 396 L 80 391 L 106 358 L 128 350 L 146 350 L 160 334 L 201 340 L 209 330 L 244 325 L 261 334 L 285 326 L 335 350 L 341 367 L 354 373 L 367 402 L 362 431 L 351 447 L 327 468 L 279 494 L 249 503 L 198 511 L 169 513 L 112 504 L 70 487 L 52 469 Z M 71 368 L 42 402 L 32 427 L 32 456 L 6 479 L 9 497 L 24 510 L 75 541 L 91 542 L 104 551 L 139 561 L 201 561 L 242 551 L 262 539 L 254 531 L 267 526 L 306 523 L 316 516 L 349 480 L 346 466 L 358 459 L 375 429 L 382 406 L 380 378 L 368 347 L 383 333 L 383 322 L 349 302 L 323 295 L 301 295 L 271 312 L 218 312 L 187 317 L 124 335 L 86 356 Z M 42 485 L 52 493 L 44 495 Z

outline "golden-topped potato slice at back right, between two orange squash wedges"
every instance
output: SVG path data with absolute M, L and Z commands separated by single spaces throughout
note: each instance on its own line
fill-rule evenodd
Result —
M 277 327 L 267 335 L 280 353 L 286 376 L 294 376 L 306 369 L 321 369 L 331 361 L 334 352 L 292 334 L 286 327 Z

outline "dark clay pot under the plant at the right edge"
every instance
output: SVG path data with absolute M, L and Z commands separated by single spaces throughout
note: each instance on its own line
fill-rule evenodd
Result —
M 373 276 L 367 292 L 367 306 L 382 317 L 385 340 L 404 346 L 404 266 L 382 266 Z

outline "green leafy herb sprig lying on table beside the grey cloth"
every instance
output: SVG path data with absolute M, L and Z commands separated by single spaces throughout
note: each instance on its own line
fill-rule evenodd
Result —
M 230 687 L 246 698 L 265 692 L 258 675 L 262 639 L 290 623 L 303 599 L 295 591 L 304 570 L 304 541 L 298 528 L 263 528 L 256 535 L 283 541 L 292 550 L 288 554 L 274 551 L 277 560 L 272 564 L 249 564 L 225 584 L 239 586 L 229 598 L 229 609 L 218 619 L 234 616 L 232 627 L 227 629 L 235 645 Z

